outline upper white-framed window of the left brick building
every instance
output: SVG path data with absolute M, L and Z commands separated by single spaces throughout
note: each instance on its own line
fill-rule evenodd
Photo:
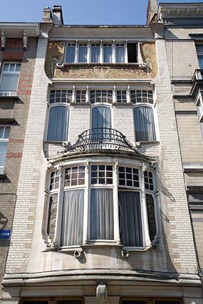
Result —
M 21 63 L 4 63 L 1 72 L 0 95 L 15 96 Z

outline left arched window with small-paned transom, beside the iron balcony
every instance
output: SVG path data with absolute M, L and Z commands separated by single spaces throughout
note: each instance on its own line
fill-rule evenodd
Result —
M 49 103 L 47 140 L 64 142 L 68 140 L 70 109 L 67 103 L 72 99 L 72 90 L 51 90 Z

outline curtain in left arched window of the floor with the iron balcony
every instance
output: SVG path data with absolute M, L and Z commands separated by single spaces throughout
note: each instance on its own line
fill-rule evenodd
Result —
M 53 107 L 50 110 L 48 121 L 47 140 L 68 140 L 69 108 L 65 106 Z

